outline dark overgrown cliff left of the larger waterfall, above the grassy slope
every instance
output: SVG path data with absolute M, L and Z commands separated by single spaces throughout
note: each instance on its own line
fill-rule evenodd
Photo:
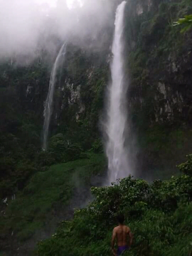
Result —
M 57 41 L 57 40 L 56 40 Z M 54 42 L 55 43 L 55 42 Z M 103 53 L 68 45 L 55 85 L 49 146 L 42 151 L 43 102 L 50 62 L 45 52 L 28 66 L 15 59 L 0 63 L 0 198 L 11 196 L 37 171 L 50 165 L 102 153 L 98 119 L 103 107 L 108 65 Z M 77 87 L 80 86 L 80 91 Z M 89 92 L 89 93 L 87 93 Z M 78 95 L 73 98 L 73 95 Z M 57 116 L 57 119 L 54 116 Z

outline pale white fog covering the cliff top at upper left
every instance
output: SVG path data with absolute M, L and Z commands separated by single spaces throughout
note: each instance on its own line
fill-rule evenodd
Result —
M 51 36 L 61 41 L 96 40 L 103 27 L 113 26 L 114 2 L 74 0 L 69 8 L 66 0 L 0 0 L 0 57 L 33 54 L 40 46 L 54 52 Z

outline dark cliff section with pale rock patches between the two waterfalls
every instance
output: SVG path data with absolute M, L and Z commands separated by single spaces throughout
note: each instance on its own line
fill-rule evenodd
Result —
M 99 134 L 98 120 L 103 110 L 110 70 L 110 41 L 106 44 L 108 50 L 68 44 L 66 60 L 58 71 L 51 132 L 65 134 L 72 141 L 75 133 L 76 140 L 87 140 L 85 149 L 91 147 Z M 83 137 L 81 132 L 84 133 Z

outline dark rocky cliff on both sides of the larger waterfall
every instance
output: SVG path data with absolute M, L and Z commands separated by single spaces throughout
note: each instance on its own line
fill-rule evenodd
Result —
M 174 167 L 191 150 L 192 33 L 181 34 L 181 27 L 172 26 L 190 13 L 188 0 L 127 2 L 125 74 L 129 123 L 138 138 L 138 173 Z M 85 149 L 99 136 L 113 29 L 106 33 L 103 28 L 98 39 L 105 47 L 95 47 L 97 39 L 86 48 L 68 46 L 55 94 L 52 134 L 61 132 L 72 140 L 75 134 L 74 140 L 85 141 Z

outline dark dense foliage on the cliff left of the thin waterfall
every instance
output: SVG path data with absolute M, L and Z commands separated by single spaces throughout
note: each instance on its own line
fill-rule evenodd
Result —
M 27 67 L 4 60 L 0 70 L 0 198 L 4 198 L 21 190 L 39 168 L 42 96 L 49 70 L 38 59 Z

